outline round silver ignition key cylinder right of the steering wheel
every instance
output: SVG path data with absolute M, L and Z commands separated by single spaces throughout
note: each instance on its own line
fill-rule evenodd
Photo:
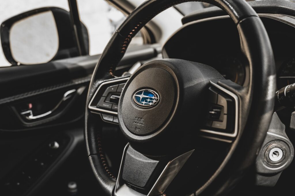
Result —
M 281 144 L 272 144 L 266 151 L 264 158 L 269 165 L 279 165 L 286 157 L 286 149 Z

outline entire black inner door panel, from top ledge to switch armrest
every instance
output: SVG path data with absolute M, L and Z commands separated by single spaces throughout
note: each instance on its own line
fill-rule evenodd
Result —
M 157 45 L 131 48 L 116 74 L 122 75 L 135 63 L 160 58 L 159 52 Z M 58 177 L 55 172 L 68 164 L 73 149 L 85 146 L 86 93 L 99 57 L 0 68 L 0 190 L 7 191 L 4 195 L 36 194 L 51 176 Z M 112 137 L 118 132 L 114 126 L 107 125 L 106 130 Z M 121 137 L 115 140 L 122 142 Z M 79 157 L 83 158 L 87 160 L 86 154 Z

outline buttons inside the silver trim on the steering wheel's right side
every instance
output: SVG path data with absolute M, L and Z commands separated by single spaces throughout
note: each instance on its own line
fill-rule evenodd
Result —
M 221 90 L 210 87 L 208 90 L 207 115 L 204 129 L 220 133 L 233 133 L 235 125 L 235 100 Z

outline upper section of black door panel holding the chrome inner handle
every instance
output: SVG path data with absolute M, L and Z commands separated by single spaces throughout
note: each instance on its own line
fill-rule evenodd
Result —
M 129 50 L 117 74 L 158 55 L 155 46 Z M 0 69 L 0 130 L 20 131 L 81 119 L 91 74 L 100 55 Z

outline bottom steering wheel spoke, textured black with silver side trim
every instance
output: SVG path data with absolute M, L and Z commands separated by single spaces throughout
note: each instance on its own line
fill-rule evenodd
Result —
M 114 195 L 163 194 L 193 152 L 190 150 L 174 158 L 150 157 L 136 151 L 128 143 L 124 148 Z

